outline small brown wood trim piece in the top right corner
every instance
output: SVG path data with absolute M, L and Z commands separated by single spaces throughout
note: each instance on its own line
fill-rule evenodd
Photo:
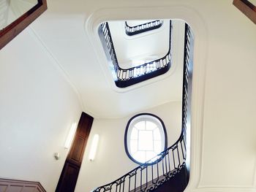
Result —
M 244 13 L 244 15 L 246 15 L 247 18 L 256 24 L 256 7 L 254 4 L 247 0 L 234 0 L 233 5 L 235 5 Z

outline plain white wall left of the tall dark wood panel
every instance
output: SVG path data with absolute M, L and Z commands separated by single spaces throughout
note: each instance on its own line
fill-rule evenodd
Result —
M 64 142 L 81 111 L 59 66 L 27 28 L 0 51 L 0 177 L 39 181 L 55 191 Z

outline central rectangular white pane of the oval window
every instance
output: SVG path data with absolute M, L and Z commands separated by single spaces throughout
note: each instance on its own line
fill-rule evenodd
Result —
M 139 131 L 139 149 L 138 150 L 154 150 L 152 131 Z

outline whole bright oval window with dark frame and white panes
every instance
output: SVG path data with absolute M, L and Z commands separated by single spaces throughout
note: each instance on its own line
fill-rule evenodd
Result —
M 148 113 L 135 115 L 127 123 L 124 146 L 132 161 L 144 164 L 166 149 L 165 124 L 156 115 Z

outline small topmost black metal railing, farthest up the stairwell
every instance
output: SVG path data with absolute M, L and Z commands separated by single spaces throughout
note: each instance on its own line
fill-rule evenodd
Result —
M 127 21 L 125 22 L 125 33 L 129 36 L 135 35 L 135 34 L 141 34 L 146 31 L 151 31 L 157 28 L 160 28 L 162 26 L 163 21 L 162 20 L 154 20 L 148 23 L 143 23 L 138 26 L 129 26 Z

